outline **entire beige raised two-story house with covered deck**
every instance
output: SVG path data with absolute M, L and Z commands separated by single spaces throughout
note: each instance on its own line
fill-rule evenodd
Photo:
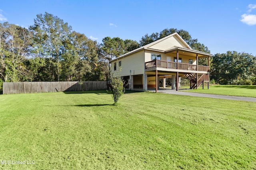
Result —
M 166 78 L 172 78 L 172 89 L 178 90 L 181 76 L 190 79 L 190 88 L 198 88 L 203 82 L 208 82 L 209 88 L 211 56 L 191 49 L 178 33 L 173 33 L 113 59 L 111 72 L 121 67 L 121 76 L 131 90 L 155 88 L 157 92 L 160 78 L 164 87 Z M 208 57 L 208 66 L 198 65 L 203 57 Z

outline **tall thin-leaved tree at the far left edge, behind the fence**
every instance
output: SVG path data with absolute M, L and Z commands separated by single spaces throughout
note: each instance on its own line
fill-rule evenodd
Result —
M 0 23 L 0 78 L 16 82 L 28 74 L 24 61 L 32 34 L 28 29 L 8 22 Z

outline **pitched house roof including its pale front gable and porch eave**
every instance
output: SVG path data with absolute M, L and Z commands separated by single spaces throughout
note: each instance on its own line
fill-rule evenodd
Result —
M 170 43 L 172 43 L 173 46 L 170 47 Z M 186 50 L 186 51 L 191 51 L 191 52 L 194 52 L 194 53 L 195 52 L 200 52 L 201 54 L 212 56 L 212 55 L 210 55 L 208 53 L 204 53 L 204 52 L 201 52 L 201 51 L 193 50 L 184 41 L 184 39 L 182 39 L 182 37 L 180 37 L 180 35 L 178 33 L 173 33 L 173 34 L 168 35 L 168 36 L 166 36 L 164 38 L 158 39 L 158 40 L 156 40 L 156 41 L 154 41 L 152 43 L 144 45 L 144 46 L 142 46 L 142 47 L 140 47 L 138 49 L 130 51 L 130 52 L 124 54 L 124 55 L 121 55 L 121 56 L 117 57 L 116 59 L 111 60 L 110 63 L 112 61 L 118 60 L 120 58 L 126 57 L 126 56 L 128 56 L 128 55 L 130 55 L 132 53 L 136 53 L 136 52 L 144 50 L 144 49 L 166 53 L 166 52 L 169 52 L 169 51 L 173 51 L 173 50 L 175 50 L 177 48 L 178 49 L 183 49 L 183 50 Z

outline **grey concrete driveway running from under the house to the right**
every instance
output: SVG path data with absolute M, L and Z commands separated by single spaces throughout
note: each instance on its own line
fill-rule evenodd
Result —
M 247 101 L 247 102 L 256 102 L 256 98 L 251 98 L 251 97 L 225 96 L 225 95 L 217 95 L 217 94 L 183 92 L 182 90 L 176 91 L 176 90 L 166 90 L 166 89 L 160 89 L 160 90 L 158 90 L 158 92 L 168 93 L 168 94 L 184 95 L 184 96 L 196 96 L 196 97 L 204 97 L 204 98 L 218 98 L 218 99 L 241 100 L 241 101 Z

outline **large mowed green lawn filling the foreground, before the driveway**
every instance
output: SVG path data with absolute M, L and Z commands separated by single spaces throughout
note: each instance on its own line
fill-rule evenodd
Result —
M 0 96 L 0 169 L 256 169 L 256 103 L 106 91 Z

